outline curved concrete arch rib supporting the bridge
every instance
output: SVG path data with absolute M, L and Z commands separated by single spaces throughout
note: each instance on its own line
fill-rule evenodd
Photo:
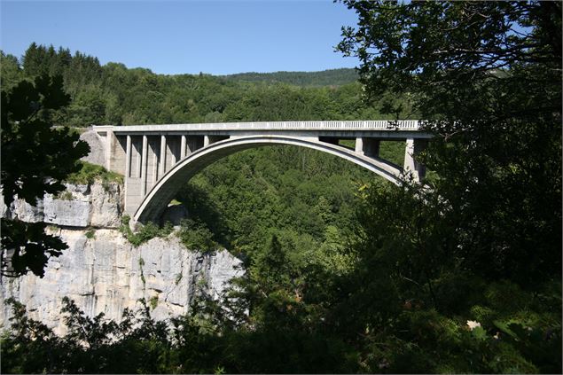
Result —
M 367 168 L 371 170 L 371 172 L 386 178 L 394 184 L 398 184 L 399 176 L 403 171 L 402 168 L 387 160 L 364 156 L 340 145 L 320 142 L 317 137 L 231 137 L 230 139 L 200 148 L 185 157 L 184 160 L 177 162 L 174 168 L 170 169 L 162 176 L 158 183 L 152 187 L 152 190 L 146 194 L 133 216 L 134 220 L 140 223 L 157 220 L 182 185 L 201 169 L 206 168 L 216 160 L 222 159 L 232 153 L 264 145 L 296 145 L 327 152 Z

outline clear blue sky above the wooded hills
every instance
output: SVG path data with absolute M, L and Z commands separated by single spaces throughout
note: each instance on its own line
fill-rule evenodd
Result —
M 356 13 L 332 0 L 0 0 L 0 47 L 62 46 L 158 74 L 318 71 L 358 65 L 334 46 Z

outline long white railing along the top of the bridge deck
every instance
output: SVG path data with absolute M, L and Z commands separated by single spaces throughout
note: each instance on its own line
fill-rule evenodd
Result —
M 105 127 L 96 127 L 98 129 Z M 418 130 L 418 120 L 401 121 L 263 121 L 198 124 L 129 125 L 113 131 L 189 131 L 189 130 Z

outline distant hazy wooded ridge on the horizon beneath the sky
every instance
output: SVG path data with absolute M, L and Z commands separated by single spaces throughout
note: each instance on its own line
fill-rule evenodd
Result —
M 343 67 L 328 69 L 320 72 L 275 72 L 275 73 L 238 73 L 221 75 L 222 78 L 243 82 L 270 82 L 289 83 L 297 86 L 321 87 L 341 86 L 356 82 L 358 74 L 356 69 Z

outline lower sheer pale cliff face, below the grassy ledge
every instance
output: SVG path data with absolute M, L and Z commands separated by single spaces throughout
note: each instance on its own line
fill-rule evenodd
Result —
M 103 312 L 119 321 L 123 309 L 137 310 L 139 299 L 151 306 L 155 319 L 188 312 L 196 293 L 223 295 L 229 279 L 241 276 L 240 261 L 227 251 L 199 254 L 187 250 L 174 234 L 133 247 L 118 230 L 58 230 L 69 248 L 49 262 L 45 277 L 3 278 L 0 321 L 11 316 L 5 299 L 27 305 L 28 316 L 64 333 L 62 298 L 74 300 L 88 315 Z

